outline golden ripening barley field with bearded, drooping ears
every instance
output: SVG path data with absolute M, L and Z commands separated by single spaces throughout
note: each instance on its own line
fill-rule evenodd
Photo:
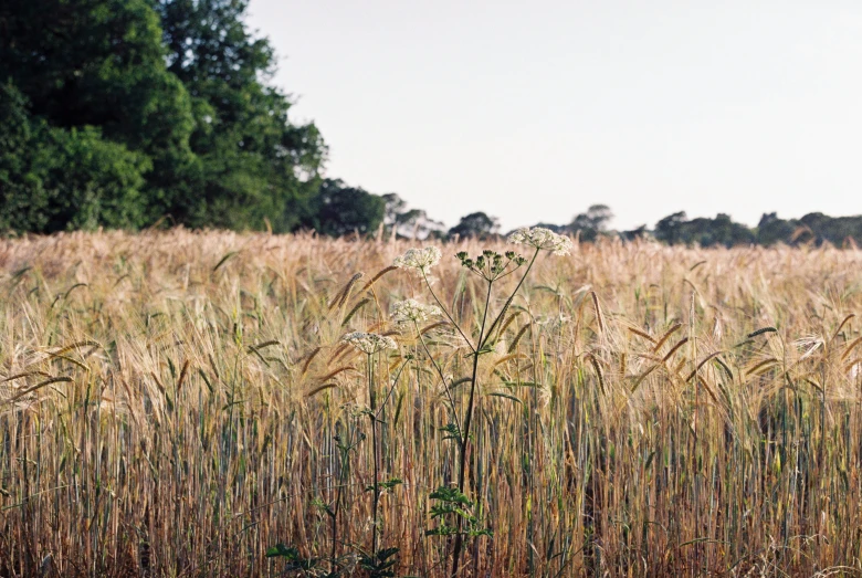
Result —
M 429 496 L 454 481 L 446 390 L 462 408 L 472 359 L 444 318 L 421 339 L 390 320 L 431 303 L 388 269 L 411 246 L 0 242 L 0 576 L 280 576 L 278 543 L 328 555 L 338 492 L 336 549 L 367 548 L 369 362 L 391 388 L 381 477 L 401 481 L 380 544 L 398 576 L 446 576 Z M 516 248 L 439 246 L 433 290 L 474 327 L 482 286 L 453 255 Z M 855 250 L 543 252 L 480 357 L 466 494 L 493 535 L 462 575 L 858 576 L 861 312 Z M 355 330 L 398 347 L 367 357 L 340 340 Z M 347 470 L 335 438 L 356 442 Z

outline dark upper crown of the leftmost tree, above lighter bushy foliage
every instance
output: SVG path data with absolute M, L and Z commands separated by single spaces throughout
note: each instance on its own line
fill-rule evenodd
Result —
M 0 30 L 0 78 L 21 91 L 31 115 L 188 159 L 191 103 L 165 66 L 146 0 L 6 0 Z

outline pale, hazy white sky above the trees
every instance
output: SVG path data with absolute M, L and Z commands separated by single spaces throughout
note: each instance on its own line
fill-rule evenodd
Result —
M 862 213 L 862 2 L 251 0 L 326 176 L 446 225 Z

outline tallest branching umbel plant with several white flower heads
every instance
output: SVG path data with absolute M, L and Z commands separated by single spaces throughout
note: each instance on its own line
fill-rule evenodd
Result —
M 435 246 L 410 249 L 403 255 L 397 258 L 393 263 L 397 267 L 416 272 L 422 279 L 428 292 L 437 303 L 437 307 L 433 307 L 421 305 L 414 301 L 403 302 L 393 307 L 392 317 L 400 323 L 412 322 L 417 336 L 442 381 L 452 414 L 453 422 L 442 429 L 448 433 L 446 439 L 452 439 L 456 443 L 458 483 L 454 487 L 449 485 L 440 486 L 429 496 L 437 502 L 431 508 L 431 518 L 437 518 L 439 522 L 435 527 L 427 532 L 427 535 L 453 537 L 451 572 L 453 578 L 459 575 L 464 538 L 492 535 L 492 532 L 483 527 L 481 518 L 473 512 L 474 507 L 481 511 L 481 506 L 474 506 L 474 501 L 467 496 L 467 488 L 465 487 L 467 455 L 476 404 L 476 387 L 479 385 L 480 357 L 495 350 L 496 340 L 501 338 L 498 332 L 501 324 L 524 281 L 529 275 L 538 254 L 542 251 L 549 251 L 555 255 L 566 255 L 571 250 L 571 241 L 568 238 L 544 228 L 519 229 L 508 237 L 508 241 L 514 244 L 526 245 L 529 248 L 530 253 L 528 253 L 528 256 L 524 256 L 515 251 L 498 253 L 492 250 L 484 250 L 474 258 L 471 258 L 466 252 L 460 252 L 455 255 L 461 262 L 461 266 L 484 284 L 484 299 L 479 304 L 480 315 L 477 316 L 476 327 L 473 328 L 474 330 L 464 327 L 455 318 L 455 313 L 450 312 L 445 307 L 432 287 L 433 277 L 430 276 L 430 273 L 431 269 L 440 262 L 441 253 L 439 249 Z M 515 274 L 519 274 L 515 288 L 507 294 L 500 311 L 493 313 L 492 305 L 495 284 Z M 451 390 L 455 382 L 451 378 L 446 379 L 442 367 L 434 359 L 428 344 L 422 338 L 422 332 L 419 330 L 418 323 L 425 320 L 432 314 L 445 316 L 464 339 L 470 350 L 469 357 L 471 358 L 472 369 L 470 378 L 466 380 L 470 383 L 470 393 L 463 412 L 459 410 L 452 397 Z

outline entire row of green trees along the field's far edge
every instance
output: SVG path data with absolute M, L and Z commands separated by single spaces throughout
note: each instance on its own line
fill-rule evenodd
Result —
M 270 81 L 276 56 L 248 0 L 0 2 L 0 232 L 158 223 L 319 234 L 488 237 L 484 212 L 445 229 L 397 193 L 325 178 L 327 147 Z M 764 214 L 756 228 L 684 212 L 610 231 L 610 209 L 568 224 L 582 241 L 651 235 L 704 246 L 862 240 L 862 218 Z M 539 223 L 543 224 L 543 223 Z

